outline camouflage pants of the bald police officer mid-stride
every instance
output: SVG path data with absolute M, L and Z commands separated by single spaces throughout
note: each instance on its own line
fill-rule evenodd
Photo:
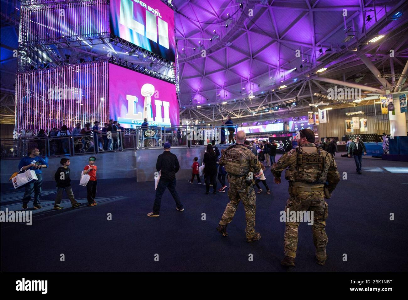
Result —
M 230 202 L 225 208 L 220 224 L 226 225 L 231 223 L 232 219 L 234 218 L 235 211 L 237 211 L 238 203 L 240 200 L 242 200 L 242 204 L 244 204 L 245 209 L 246 238 L 253 238 L 255 235 L 256 196 L 253 185 L 247 187 L 245 180 L 242 181 L 243 182 L 241 184 L 234 183 L 228 176 L 228 182 L 230 183 L 228 188 L 228 197 Z

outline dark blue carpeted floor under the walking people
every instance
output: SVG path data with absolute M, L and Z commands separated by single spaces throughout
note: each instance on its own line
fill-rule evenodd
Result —
M 364 158 L 364 173 L 358 175 L 353 159 L 336 156 L 336 161 L 347 180 L 341 179 L 327 200 L 326 265 L 315 263 L 311 228 L 301 224 L 297 267 L 289 271 L 406 271 L 408 164 Z M 2 271 L 286 271 L 279 264 L 284 232 L 279 212 L 288 198 L 288 183 L 282 176 L 278 186 L 269 169 L 265 174 L 272 194 L 257 195 L 256 230 L 262 239 L 252 244 L 245 240 L 242 204 L 224 238 L 215 227 L 227 193 L 205 195 L 204 186 L 189 184 L 187 178 L 177 181 L 185 211 L 175 209 L 166 191 L 159 218 L 146 216 L 153 206 L 153 182 L 100 180 L 96 207 L 86 206 L 85 188 L 73 182 L 83 206 L 72 209 L 63 200 L 60 211 L 52 210 L 55 184 L 44 183 L 44 208 L 33 211 L 31 226 L 1 223 Z M 2 185 L 1 209 L 21 210 L 22 193 Z

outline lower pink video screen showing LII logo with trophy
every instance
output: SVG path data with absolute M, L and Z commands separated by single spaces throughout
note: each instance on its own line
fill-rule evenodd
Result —
M 109 117 L 125 128 L 144 118 L 149 126 L 178 126 L 176 87 L 169 82 L 109 64 Z

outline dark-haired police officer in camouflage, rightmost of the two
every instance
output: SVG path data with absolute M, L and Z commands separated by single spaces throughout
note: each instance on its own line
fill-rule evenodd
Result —
M 312 231 L 316 262 L 323 265 L 327 259 L 328 241 L 325 229 L 328 205 L 324 199 L 331 197 L 340 176 L 333 156 L 315 146 L 315 133 L 312 130 L 302 129 L 297 132 L 296 139 L 299 146 L 284 153 L 278 162 L 273 164 L 271 172 L 275 176 L 275 183 L 280 184 L 281 173 L 288 167 L 285 179 L 289 181 L 289 199 L 286 202 L 285 213 L 287 209 L 295 213 L 313 211 Z M 283 265 L 295 267 L 299 224 L 300 222 L 290 222 L 286 218 L 285 257 L 281 262 Z

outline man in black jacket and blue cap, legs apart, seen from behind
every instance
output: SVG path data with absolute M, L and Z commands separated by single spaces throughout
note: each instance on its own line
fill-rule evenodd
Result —
M 183 204 L 176 191 L 176 173 L 180 169 L 177 156 L 170 152 L 170 143 L 164 143 L 164 152 L 157 157 L 156 170 L 161 171 L 160 180 L 156 188 L 156 197 L 153 204 L 153 211 L 148 213 L 149 217 L 160 216 L 160 203 L 166 187 L 169 189 L 171 196 L 176 202 L 176 209 L 184 211 Z M 156 179 L 155 174 L 155 179 Z

